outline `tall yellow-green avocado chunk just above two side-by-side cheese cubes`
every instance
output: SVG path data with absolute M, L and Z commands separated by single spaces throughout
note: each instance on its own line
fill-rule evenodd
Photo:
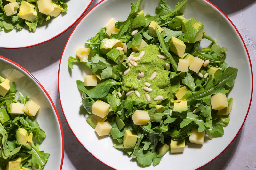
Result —
M 177 54 L 178 57 L 180 57 L 180 58 L 184 57 L 186 45 L 180 39 L 172 36 L 170 44 L 169 44 L 169 48 L 172 52 Z

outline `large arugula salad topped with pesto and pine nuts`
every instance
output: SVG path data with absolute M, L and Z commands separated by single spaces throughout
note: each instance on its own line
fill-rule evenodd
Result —
M 88 124 L 142 166 L 202 145 L 206 135 L 224 135 L 238 71 L 203 23 L 184 18 L 186 0 L 173 8 L 158 2 L 150 15 L 137 0 L 127 20 L 111 19 L 68 59 L 70 68 L 79 63 L 92 71 L 76 81 Z

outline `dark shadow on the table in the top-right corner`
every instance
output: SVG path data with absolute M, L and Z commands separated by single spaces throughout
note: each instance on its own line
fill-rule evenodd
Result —
M 220 8 L 221 11 L 223 11 L 226 15 L 240 11 L 243 8 L 246 8 L 247 6 L 250 6 L 251 4 L 255 3 L 255 0 L 209 0 L 211 3 L 216 5 L 218 8 Z

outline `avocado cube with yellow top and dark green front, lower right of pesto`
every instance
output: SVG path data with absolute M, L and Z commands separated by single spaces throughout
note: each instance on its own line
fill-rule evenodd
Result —
M 185 119 L 187 117 L 188 113 L 188 106 L 187 106 L 187 101 L 181 101 L 175 102 L 173 104 L 173 109 L 172 109 L 172 115 L 173 116 L 179 116 L 182 119 Z

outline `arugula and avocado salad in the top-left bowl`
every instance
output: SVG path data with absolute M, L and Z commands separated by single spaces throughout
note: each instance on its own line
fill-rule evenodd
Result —
M 67 10 L 63 0 L 0 0 L 0 28 L 20 31 L 27 25 L 35 32 L 38 24 Z

